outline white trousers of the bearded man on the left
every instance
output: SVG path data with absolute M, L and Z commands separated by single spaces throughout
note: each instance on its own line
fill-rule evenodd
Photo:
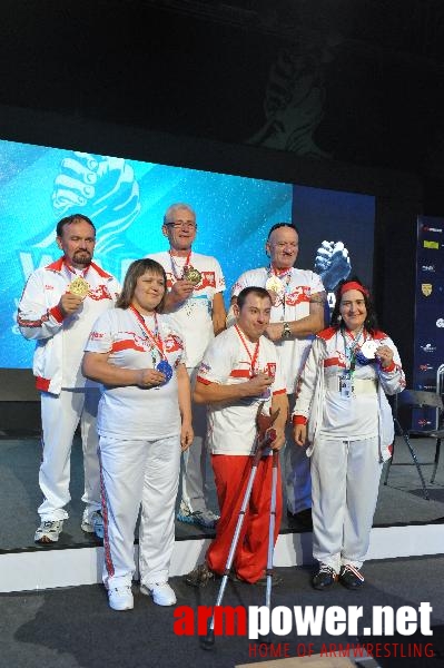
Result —
M 100 390 L 61 390 L 59 395 L 41 393 L 42 461 L 39 484 L 43 503 L 38 512 L 45 520 L 65 520 L 68 513 L 72 439 L 80 422 L 83 449 L 85 493 L 89 514 L 100 509 L 100 473 L 97 456 L 97 407 Z

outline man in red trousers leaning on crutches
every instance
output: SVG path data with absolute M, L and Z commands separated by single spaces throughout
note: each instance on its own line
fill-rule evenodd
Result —
M 208 445 L 215 473 L 220 519 L 206 561 L 185 576 L 200 587 L 224 573 L 227 554 L 251 469 L 258 406 L 269 414 L 279 409 L 273 424 L 272 449 L 285 442 L 288 412 L 285 380 L 274 344 L 263 336 L 269 322 L 272 301 L 266 289 L 247 287 L 234 306 L 236 324 L 221 332 L 208 346 L 197 375 L 194 399 L 207 404 Z M 246 582 L 265 582 L 272 499 L 272 456 L 258 464 L 234 557 L 236 577 Z M 275 541 L 282 518 L 282 484 L 277 483 Z

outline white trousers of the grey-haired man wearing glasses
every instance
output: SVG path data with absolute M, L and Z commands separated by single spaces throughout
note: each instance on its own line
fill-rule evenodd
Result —
M 198 369 L 188 369 L 187 371 L 193 391 Z M 207 407 L 203 404 L 193 404 L 193 429 L 195 432 L 193 444 L 184 452 L 181 500 L 191 512 L 196 512 L 196 510 L 207 508 L 208 502 L 206 489 L 208 463 L 206 446 Z

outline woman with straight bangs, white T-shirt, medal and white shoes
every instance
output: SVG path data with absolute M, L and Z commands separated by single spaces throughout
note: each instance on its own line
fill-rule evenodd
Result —
M 180 452 L 191 444 L 193 428 L 182 341 L 160 314 L 166 284 L 157 262 L 134 262 L 116 308 L 97 320 L 83 357 L 83 374 L 105 386 L 97 425 L 103 582 L 114 610 L 134 607 L 140 505 L 140 591 L 159 606 L 176 603 L 168 571 Z

